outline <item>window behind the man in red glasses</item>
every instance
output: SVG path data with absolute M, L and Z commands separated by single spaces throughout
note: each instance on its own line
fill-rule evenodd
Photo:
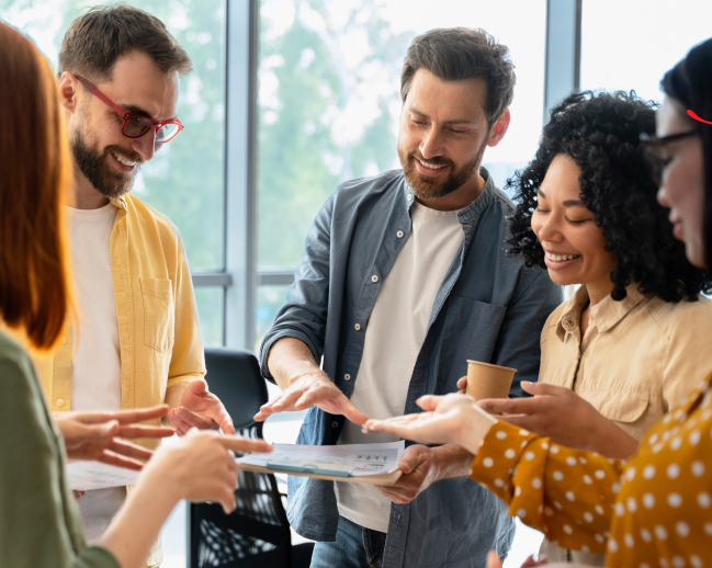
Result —
M 185 129 L 137 175 L 133 192 L 179 228 L 191 269 L 225 270 L 225 0 L 134 0 L 161 19 L 188 52 L 178 115 Z M 0 0 L 0 18 L 27 34 L 54 68 L 69 24 L 84 0 Z M 223 344 L 225 291 L 197 287 L 203 339 Z

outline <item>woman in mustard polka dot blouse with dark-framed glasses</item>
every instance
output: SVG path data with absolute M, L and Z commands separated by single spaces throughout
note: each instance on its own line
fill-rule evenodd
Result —
M 670 207 L 690 262 L 709 269 L 712 125 L 686 111 L 712 118 L 712 39 L 662 84 L 658 136 L 647 141 L 665 168 L 658 200 Z M 712 375 L 646 432 L 626 462 L 551 443 L 464 395 L 427 396 L 419 406 L 425 412 L 364 428 L 461 445 L 475 454 L 472 478 L 509 503 L 510 514 L 565 548 L 606 553 L 606 566 L 712 567 Z

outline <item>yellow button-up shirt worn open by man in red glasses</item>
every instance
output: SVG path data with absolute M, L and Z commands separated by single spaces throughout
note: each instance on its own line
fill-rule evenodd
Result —
M 111 232 L 111 271 L 118 319 L 121 408 L 160 405 L 166 389 L 205 375 L 193 285 L 176 226 L 135 196 L 118 207 Z M 72 330 L 35 365 L 53 411 L 71 406 Z M 81 341 L 81 329 L 78 333 Z M 156 447 L 157 441 L 138 441 Z

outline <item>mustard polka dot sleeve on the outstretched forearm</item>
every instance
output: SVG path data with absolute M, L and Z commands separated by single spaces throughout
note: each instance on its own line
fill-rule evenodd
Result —
M 550 541 L 604 553 L 622 470 L 620 461 L 551 444 L 499 421 L 473 461 L 472 478 Z

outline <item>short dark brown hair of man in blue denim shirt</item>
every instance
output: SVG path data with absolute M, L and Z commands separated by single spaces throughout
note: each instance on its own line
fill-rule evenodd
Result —
M 509 48 L 481 29 L 430 30 L 416 37 L 406 54 L 400 73 L 400 98 L 406 101 L 418 69 L 443 81 L 484 79 L 487 83 L 487 123 L 491 127 L 515 95 L 515 66 Z

